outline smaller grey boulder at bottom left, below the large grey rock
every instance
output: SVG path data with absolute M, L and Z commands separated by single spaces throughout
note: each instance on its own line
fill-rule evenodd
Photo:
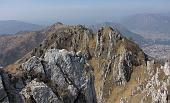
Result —
M 47 85 L 35 80 L 28 83 L 21 94 L 25 103 L 62 103 Z

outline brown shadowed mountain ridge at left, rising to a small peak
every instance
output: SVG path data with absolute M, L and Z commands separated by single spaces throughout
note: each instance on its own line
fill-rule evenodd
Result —
M 40 31 L 0 35 L 0 65 L 5 67 L 14 63 L 37 47 L 47 35 L 51 35 L 52 32 L 64 26 L 56 23 Z

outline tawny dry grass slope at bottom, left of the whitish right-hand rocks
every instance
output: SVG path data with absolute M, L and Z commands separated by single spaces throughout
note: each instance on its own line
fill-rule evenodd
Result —
M 119 103 L 122 97 L 126 97 L 130 103 L 139 103 L 142 98 L 142 94 L 137 93 L 133 97 L 131 96 L 132 90 L 138 85 L 136 77 L 140 77 L 140 81 L 145 84 L 145 68 L 142 66 L 134 67 L 130 81 L 125 86 L 112 85 L 112 93 L 108 98 L 107 103 Z

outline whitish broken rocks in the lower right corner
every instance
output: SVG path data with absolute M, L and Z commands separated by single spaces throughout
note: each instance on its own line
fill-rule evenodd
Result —
M 150 102 L 152 103 L 167 103 L 168 102 L 168 78 L 163 73 L 160 67 L 155 67 L 154 61 L 148 61 L 149 65 L 147 73 L 150 76 L 145 89 L 142 91 L 143 98 L 142 102 L 149 101 L 148 98 L 152 98 Z M 166 65 L 165 65 L 166 66 Z M 155 70 L 156 69 L 156 70 Z M 162 77 L 164 79 L 162 79 Z M 167 79 L 166 79 L 167 78 Z

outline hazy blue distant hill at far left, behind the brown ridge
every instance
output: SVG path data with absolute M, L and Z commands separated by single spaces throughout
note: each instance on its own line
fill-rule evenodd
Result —
M 0 35 L 2 34 L 15 34 L 19 31 L 36 31 L 44 28 L 44 26 L 26 23 L 17 20 L 4 20 L 0 21 Z

